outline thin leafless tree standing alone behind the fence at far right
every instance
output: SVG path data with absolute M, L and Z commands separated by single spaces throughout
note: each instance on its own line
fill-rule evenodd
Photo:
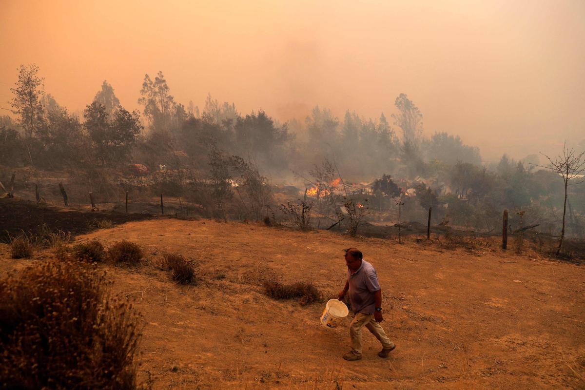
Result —
M 559 247 L 556 250 L 556 254 L 560 253 L 560 249 L 563 246 L 563 239 L 565 238 L 565 214 L 567 212 L 567 187 L 569 185 L 577 185 L 583 182 L 583 172 L 585 172 L 585 151 L 577 154 L 573 148 L 569 149 L 567 143 L 563 144 L 563 155 L 557 156 L 554 159 L 541 153 L 543 156 L 548 158 L 549 165 L 536 165 L 537 167 L 545 168 L 560 174 L 563 177 L 565 183 L 565 202 L 563 203 L 563 228 L 560 231 Z M 581 178 L 580 181 L 569 183 L 570 180 L 575 178 Z

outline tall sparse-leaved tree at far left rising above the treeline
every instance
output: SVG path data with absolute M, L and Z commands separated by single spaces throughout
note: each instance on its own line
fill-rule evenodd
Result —
M 40 97 L 43 95 L 44 79 L 38 73 L 39 67 L 35 64 L 20 65 L 16 88 L 10 89 L 15 95 L 11 102 L 12 108 L 20 116 L 20 125 L 25 129 L 27 139 L 32 138 L 43 120 Z

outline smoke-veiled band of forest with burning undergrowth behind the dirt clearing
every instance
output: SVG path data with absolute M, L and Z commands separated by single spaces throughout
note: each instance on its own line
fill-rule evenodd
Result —
M 338 118 L 315 106 L 304 120 L 281 123 L 210 94 L 202 108 L 185 106 L 161 71 L 137 85 L 140 111 L 124 108 L 108 81 L 82 112 L 70 112 L 44 91 L 36 65 L 22 65 L 15 79 L 0 165 L 4 182 L 18 171 L 24 198 L 34 199 L 37 185 L 46 188 L 37 198 L 59 199 L 47 182 L 63 181 L 72 202 L 87 203 L 88 192 L 101 203 L 121 202 L 126 191 L 146 203 L 164 194 L 180 199 L 178 213 L 183 202 L 230 219 L 308 219 L 312 211 L 315 220 L 345 220 L 336 228 L 349 231 L 348 220 L 425 223 L 432 208 L 435 225 L 495 234 L 508 209 L 511 231 L 538 225 L 550 236 L 559 235 L 566 209 L 566 236 L 583 237 L 585 185 L 570 185 L 582 176 L 569 182 L 565 203 L 563 176 L 547 156 L 503 153 L 486 163 L 457 134 L 424 129 L 407 94 L 379 118 L 351 110 Z

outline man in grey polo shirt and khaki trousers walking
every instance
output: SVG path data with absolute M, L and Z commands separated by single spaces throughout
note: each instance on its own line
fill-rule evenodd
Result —
M 341 301 L 349 290 L 349 302 L 354 317 L 349 325 L 349 334 L 352 339 L 352 350 L 343 355 L 345 360 L 360 360 L 362 358 L 362 327 L 376 336 L 382 343 L 379 357 L 388 357 L 396 346 L 388 339 L 384 329 L 380 326 L 382 317 L 382 291 L 378 283 L 376 270 L 367 261 L 357 248 L 345 249 L 345 264 L 347 265 L 347 281 L 345 288 L 339 293 Z

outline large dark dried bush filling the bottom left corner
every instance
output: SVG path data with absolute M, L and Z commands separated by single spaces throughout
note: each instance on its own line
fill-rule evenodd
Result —
M 90 264 L 49 261 L 0 280 L 0 387 L 136 389 L 137 315 Z

